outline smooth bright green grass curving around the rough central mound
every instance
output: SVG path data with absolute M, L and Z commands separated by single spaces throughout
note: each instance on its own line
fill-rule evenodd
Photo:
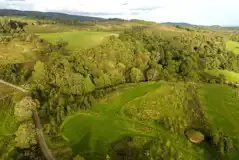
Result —
M 170 87 L 165 83 L 143 83 L 119 88 L 89 111 L 81 111 L 68 117 L 62 124 L 62 134 L 68 139 L 75 154 L 89 159 L 104 159 L 111 144 L 125 136 L 140 137 L 146 142 L 156 139 L 168 140 L 167 143 L 172 143 L 173 149 L 182 153 L 186 159 L 208 158 L 210 154 L 205 148 L 192 145 L 184 135 L 174 134 L 151 120 L 139 120 L 138 117 L 132 118 L 125 114 L 129 104 L 137 104 L 140 99 L 148 101 L 146 103 L 151 105 L 150 95 L 154 94 L 153 99 L 157 100 L 165 91 L 164 85 L 166 88 Z M 167 94 L 172 94 L 171 91 Z M 170 115 L 170 110 L 177 112 L 175 106 L 165 106 L 165 115 Z

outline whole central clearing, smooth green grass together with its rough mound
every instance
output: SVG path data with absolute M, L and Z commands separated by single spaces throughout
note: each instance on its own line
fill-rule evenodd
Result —
M 181 90 L 177 90 L 177 88 Z M 187 159 L 198 159 L 198 157 L 204 159 L 205 156 L 210 156 L 208 150 L 192 145 L 183 134 L 176 134 L 176 129 L 173 127 L 172 130 L 166 129 L 160 125 L 160 122 L 157 122 L 157 119 L 167 119 L 167 117 L 173 116 L 173 112 L 176 115 L 172 119 L 168 119 L 175 120 L 176 123 L 179 120 L 179 124 L 184 123 L 182 119 L 185 116 L 182 113 L 184 107 L 179 105 L 181 100 L 179 103 L 176 102 L 182 98 L 179 96 L 179 92 L 182 90 L 184 89 L 181 84 L 172 85 L 164 82 L 120 87 L 96 103 L 91 109 L 80 111 L 66 118 L 61 126 L 62 135 L 68 139 L 68 145 L 75 154 L 89 159 L 104 159 L 112 144 L 127 136 L 141 139 L 132 142 L 137 147 L 142 147 L 150 140 L 158 139 L 173 148 L 174 153 L 171 154 L 184 153 Z M 165 94 L 172 96 L 167 98 L 167 96 L 163 96 Z M 158 100 L 160 98 L 162 100 Z M 142 111 L 140 111 L 141 109 Z M 132 110 L 135 117 L 131 115 Z M 152 112 L 153 110 L 156 114 Z M 163 113 L 162 116 L 157 114 L 159 112 Z M 155 119 L 147 118 L 145 116 L 147 114 L 149 114 L 148 116 L 153 115 Z M 165 144 L 162 145 L 162 147 L 164 146 Z M 167 149 L 163 149 L 161 152 L 167 152 Z

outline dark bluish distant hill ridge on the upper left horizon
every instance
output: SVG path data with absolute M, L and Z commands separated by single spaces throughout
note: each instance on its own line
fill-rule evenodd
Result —
M 57 12 L 39 12 L 39 11 L 19 11 L 13 9 L 0 9 L 0 16 L 26 16 L 37 18 L 61 18 L 61 19 L 79 19 L 80 21 L 104 21 L 107 19 L 99 17 L 89 17 L 80 15 L 70 15 Z

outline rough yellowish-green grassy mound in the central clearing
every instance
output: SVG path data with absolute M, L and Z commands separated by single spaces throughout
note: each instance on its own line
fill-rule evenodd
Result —
M 182 94 L 183 93 L 183 94 Z M 167 117 L 185 117 L 183 101 L 185 86 L 165 83 L 144 97 L 126 104 L 125 114 L 139 120 L 159 120 Z

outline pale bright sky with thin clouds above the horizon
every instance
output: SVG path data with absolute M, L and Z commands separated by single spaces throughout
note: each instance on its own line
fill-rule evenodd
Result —
M 239 26 L 238 0 L 0 0 L 0 9 Z

